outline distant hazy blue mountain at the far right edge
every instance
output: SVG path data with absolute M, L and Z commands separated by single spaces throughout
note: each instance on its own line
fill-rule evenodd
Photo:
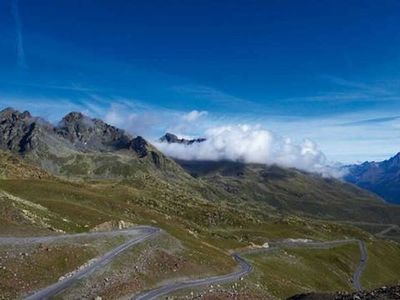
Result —
M 382 162 L 346 166 L 345 180 L 400 204 L 400 153 Z

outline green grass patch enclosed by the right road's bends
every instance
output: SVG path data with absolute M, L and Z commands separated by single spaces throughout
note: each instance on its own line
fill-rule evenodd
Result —
M 282 299 L 311 291 L 350 291 L 359 252 L 356 244 L 350 244 L 332 249 L 278 249 L 246 257 L 255 266 L 249 280 Z

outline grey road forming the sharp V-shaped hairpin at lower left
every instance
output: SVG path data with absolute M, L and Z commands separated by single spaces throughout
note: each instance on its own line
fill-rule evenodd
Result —
M 81 233 L 81 234 L 66 234 L 66 235 L 57 235 L 57 236 L 45 236 L 45 237 L 29 237 L 29 238 L 0 238 L 0 244 L 27 244 L 27 243 L 43 243 L 55 240 L 62 239 L 71 239 L 77 237 L 100 237 L 100 236 L 120 236 L 127 235 L 133 236 L 123 244 L 117 246 L 111 251 L 107 252 L 103 256 L 97 258 L 86 268 L 77 271 L 72 276 L 67 277 L 66 279 L 54 283 L 42 290 L 34 292 L 32 295 L 28 296 L 26 300 L 41 300 L 41 299 L 49 299 L 52 296 L 57 295 L 63 290 L 70 287 L 75 282 L 81 280 L 82 278 L 87 277 L 93 271 L 103 268 L 105 265 L 110 263 L 118 254 L 124 252 L 128 248 L 142 243 L 145 240 L 155 236 L 160 232 L 159 228 L 150 227 L 150 226 L 138 226 L 132 229 L 126 230 L 115 230 L 109 232 L 89 232 L 89 233 Z

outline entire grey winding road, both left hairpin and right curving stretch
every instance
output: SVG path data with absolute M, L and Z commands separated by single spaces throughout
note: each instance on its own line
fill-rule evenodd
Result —
M 72 273 L 70 276 L 65 279 L 58 281 L 42 290 L 34 292 L 32 295 L 29 295 L 27 300 L 39 300 L 39 299 L 49 299 L 60 292 L 66 290 L 74 283 L 79 280 L 89 276 L 92 272 L 97 269 L 105 267 L 108 263 L 110 263 L 117 255 L 126 251 L 128 248 L 142 243 L 158 233 L 161 232 L 161 229 L 151 226 L 138 226 L 132 229 L 125 230 L 115 230 L 109 232 L 89 232 L 89 233 L 80 233 L 80 234 L 65 234 L 65 235 L 57 235 L 57 236 L 44 236 L 44 237 L 3 237 L 0 238 L 1 244 L 31 244 L 31 243 L 43 243 L 49 241 L 63 240 L 63 239 L 74 239 L 79 237 L 112 237 L 112 236 L 120 236 L 126 235 L 130 237 L 127 241 L 122 243 L 121 245 L 115 247 L 109 252 L 105 253 L 101 257 L 98 257 L 91 261 L 86 267 Z M 280 247 L 286 248 L 314 248 L 314 249 L 328 249 L 336 246 L 340 246 L 343 244 L 349 243 L 358 243 L 360 248 L 360 260 L 359 264 L 353 274 L 353 287 L 356 290 L 361 290 L 362 286 L 360 283 L 361 274 L 367 264 L 367 249 L 365 244 L 361 240 L 356 239 L 347 239 L 347 240 L 336 240 L 336 241 L 327 241 L 327 242 L 313 242 L 313 241 L 296 241 L 296 240 L 284 240 L 280 242 L 274 242 L 269 244 L 269 248 L 252 248 L 246 249 L 243 251 L 232 253 L 232 258 L 237 262 L 237 269 L 226 275 L 219 276 L 211 276 L 205 277 L 201 279 L 192 279 L 192 280 L 181 280 L 172 283 L 166 283 L 161 285 L 160 287 L 154 288 L 152 290 L 143 292 L 140 295 L 131 295 L 128 299 L 137 299 L 137 300 L 151 300 L 156 299 L 160 296 L 167 295 L 178 290 L 194 288 L 198 286 L 207 286 L 207 285 L 216 285 L 216 284 L 224 284 L 232 281 L 240 280 L 242 277 L 246 276 L 250 272 L 253 271 L 253 266 L 244 259 L 241 255 L 244 254 L 256 254 L 269 252 Z

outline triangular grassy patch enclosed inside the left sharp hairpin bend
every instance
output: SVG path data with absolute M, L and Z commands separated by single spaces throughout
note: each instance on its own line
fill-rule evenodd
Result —
M 125 238 L 0 246 L 0 298 L 14 299 L 57 281 Z

